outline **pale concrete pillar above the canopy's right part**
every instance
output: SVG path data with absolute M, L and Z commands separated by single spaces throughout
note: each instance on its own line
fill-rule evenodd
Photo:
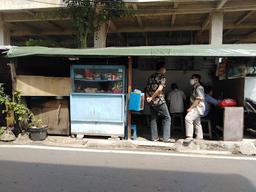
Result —
M 210 20 L 209 42 L 220 45 L 223 42 L 223 13 L 213 13 Z

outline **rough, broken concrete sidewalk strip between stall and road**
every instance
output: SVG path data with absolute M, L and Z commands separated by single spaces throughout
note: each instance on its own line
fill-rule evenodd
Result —
M 240 142 L 194 140 L 187 147 L 183 146 L 182 143 L 183 139 L 177 140 L 176 143 L 163 143 L 148 141 L 144 138 L 138 138 L 137 140 L 77 139 L 65 136 L 48 136 L 44 141 L 31 141 L 28 135 L 19 135 L 19 137 L 12 142 L 0 142 L 0 144 L 10 145 L 18 144 L 94 149 L 150 150 L 204 155 L 250 155 L 255 156 L 256 158 L 256 139 L 244 139 Z

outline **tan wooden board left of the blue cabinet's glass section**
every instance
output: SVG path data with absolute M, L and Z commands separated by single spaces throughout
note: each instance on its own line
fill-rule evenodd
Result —
M 69 96 L 71 93 L 68 77 L 19 75 L 16 79 L 16 88 L 22 96 Z

